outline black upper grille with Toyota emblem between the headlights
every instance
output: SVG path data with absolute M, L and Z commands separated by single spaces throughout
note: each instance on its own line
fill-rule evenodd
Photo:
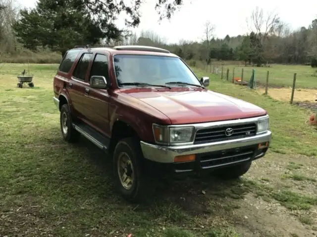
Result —
M 231 135 L 227 133 L 226 129 L 232 129 Z M 221 127 L 203 128 L 197 131 L 195 137 L 195 144 L 217 142 L 224 140 L 231 140 L 243 137 L 254 136 L 257 133 L 257 125 L 255 123 L 245 123 L 239 125 L 224 125 Z M 229 135 L 229 136 L 228 136 Z

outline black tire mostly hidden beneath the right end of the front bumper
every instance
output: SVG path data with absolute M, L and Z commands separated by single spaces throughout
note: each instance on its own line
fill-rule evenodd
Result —
M 237 179 L 249 171 L 251 163 L 252 161 L 247 161 L 234 166 L 219 168 L 214 171 L 214 174 L 222 179 Z

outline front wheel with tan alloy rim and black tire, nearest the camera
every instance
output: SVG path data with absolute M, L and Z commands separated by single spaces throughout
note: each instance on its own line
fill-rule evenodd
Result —
M 141 168 L 143 158 L 140 144 L 136 138 L 120 140 L 113 152 L 113 169 L 116 186 L 121 195 L 129 201 L 139 201 L 148 197 L 154 186 Z

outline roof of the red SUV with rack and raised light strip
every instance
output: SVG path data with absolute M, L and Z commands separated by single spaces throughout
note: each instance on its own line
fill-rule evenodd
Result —
M 139 46 L 139 45 L 138 45 Z M 88 50 L 90 49 L 91 52 L 102 52 L 102 51 L 107 51 L 109 52 L 111 55 L 115 55 L 115 54 L 129 54 L 129 55 L 154 55 L 154 56 L 167 56 L 167 57 L 177 57 L 177 55 L 170 53 L 170 52 L 158 52 L 158 51 L 151 51 L 151 48 L 153 49 L 159 49 L 159 48 L 155 48 L 155 47 L 148 47 L 148 46 L 141 46 L 144 48 L 147 48 L 147 50 L 142 50 L 142 48 L 139 49 L 116 49 L 116 48 L 112 48 L 112 47 L 75 47 L 72 48 L 70 50 L 78 50 L 78 49 L 82 49 L 82 50 Z M 162 51 L 165 49 L 162 49 Z M 167 51 L 167 50 L 165 50 Z

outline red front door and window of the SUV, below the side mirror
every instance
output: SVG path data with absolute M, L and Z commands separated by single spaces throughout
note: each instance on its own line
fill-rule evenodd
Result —
M 91 66 L 89 79 L 92 76 L 104 76 L 107 84 L 110 85 L 108 55 L 106 53 L 96 53 Z M 94 89 L 89 87 L 89 93 L 86 94 L 89 103 L 89 119 L 97 130 L 110 135 L 109 129 L 109 94 L 106 89 Z

